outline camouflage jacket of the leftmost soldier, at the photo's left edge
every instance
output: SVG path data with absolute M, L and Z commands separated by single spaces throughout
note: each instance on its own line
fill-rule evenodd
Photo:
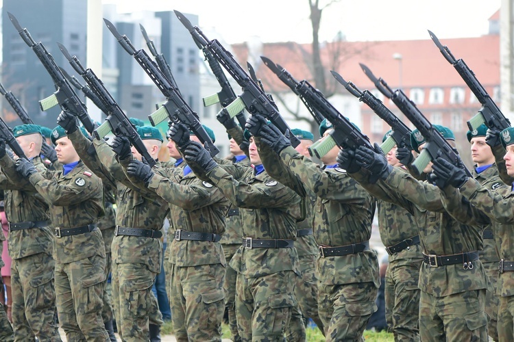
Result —
M 40 157 L 32 159 L 39 172 L 46 170 Z M 5 215 L 9 222 L 47 221 L 48 203 L 29 181 L 14 170 L 14 161 L 6 154 L 0 159 L 0 188 L 4 189 Z M 2 234 L 3 235 L 3 234 Z M 38 253 L 51 254 L 53 230 L 51 228 L 30 228 L 9 232 L 9 255 L 20 259 Z

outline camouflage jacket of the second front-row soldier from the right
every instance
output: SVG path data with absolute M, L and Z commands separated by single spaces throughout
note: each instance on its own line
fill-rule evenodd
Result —
M 393 168 L 385 181 L 379 179 L 376 184 L 369 183 L 367 172 L 358 172 L 352 177 L 376 198 L 400 205 L 415 217 L 424 254 L 439 256 L 482 249 L 482 227 L 469 226 L 452 218 L 435 185 L 417 181 L 398 168 Z M 454 206 L 450 209 L 458 213 L 461 220 L 474 222 L 469 207 L 463 205 L 461 198 L 452 197 L 450 203 Z M 436 297 L 486 289 L 485 269 L 480 261 L 473 263 L 473 269 L 463 269 L 461 264 L 430 267 L 422 263 L 419 289 Z

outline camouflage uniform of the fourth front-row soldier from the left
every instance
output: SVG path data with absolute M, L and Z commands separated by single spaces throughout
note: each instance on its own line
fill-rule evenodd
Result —
M 177 341 L 221 341 L 227 265 L 219 239 L 229 204 L 219 189 L 184 169 L 157 168 L 148 185 L 169 203 L 175 229 L 167 246 L 173 332 Z M 196 234 L 204 236 L 187 238 Z

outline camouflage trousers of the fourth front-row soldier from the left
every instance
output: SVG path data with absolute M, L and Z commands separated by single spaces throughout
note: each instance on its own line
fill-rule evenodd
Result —
M 225 267 L 217 263 L 170 268 L 169 302 L 177 341 L 221 341 Z

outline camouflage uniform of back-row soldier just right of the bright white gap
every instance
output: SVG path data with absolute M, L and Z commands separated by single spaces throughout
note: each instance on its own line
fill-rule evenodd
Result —
M 389 254 L 385 276 L 387 325 L 395 341 L 419 341 L 417 282 L 423 254 L 417 222 L 406 209 L 391 202 L 377 200 L 377 209 L 380 239 Z

